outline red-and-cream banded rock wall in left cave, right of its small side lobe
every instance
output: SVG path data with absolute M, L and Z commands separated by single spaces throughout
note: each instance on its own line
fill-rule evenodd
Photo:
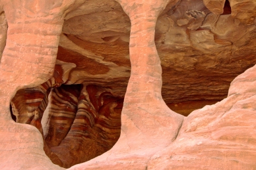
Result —
M 121 128 L 122 99 L 95 85 L 82 85 L 80 91 L 74 90 L 79 89 L 74 86 L 51 91 L 46 143 L 61 159 L 63 167 L 88 161 L 110 150 Z

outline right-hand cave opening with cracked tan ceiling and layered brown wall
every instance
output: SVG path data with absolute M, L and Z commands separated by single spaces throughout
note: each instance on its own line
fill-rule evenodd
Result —
M 254 26 L 233 18 L 228 0 L 222 14 L 210 11 L 217 6 L 208 9 L 200 2 L 183 0 L 167 6 L 156 22 L 162 97 L 183 116 L 226 98 L 232 80 L 256 63 L 253 53 L 246 52 L 253 46 L 243 41 Z

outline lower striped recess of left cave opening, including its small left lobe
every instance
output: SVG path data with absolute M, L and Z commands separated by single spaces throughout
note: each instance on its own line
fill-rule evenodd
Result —
M 71 167 L 110 150 L 120 135 L 123 98 L 99 85 L 50 84 L 19 90 L 11 114 L 42 133 L 51 161 Z

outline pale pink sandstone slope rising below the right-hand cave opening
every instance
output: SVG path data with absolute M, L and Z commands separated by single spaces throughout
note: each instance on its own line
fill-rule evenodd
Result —
M 255 169 L 255 72 L 236 77 L 228 98 L 192 112 L 148 169 Z

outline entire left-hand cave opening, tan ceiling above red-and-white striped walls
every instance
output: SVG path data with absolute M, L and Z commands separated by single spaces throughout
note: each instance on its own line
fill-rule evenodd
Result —
M 13 120 L 40 131 L 53 163 L 69 168 L 117 142 L 131 70 L 130 29 L 116 1 L 86 1 L 65 17 L 53 77 L 20 89 L 11 101 Z

